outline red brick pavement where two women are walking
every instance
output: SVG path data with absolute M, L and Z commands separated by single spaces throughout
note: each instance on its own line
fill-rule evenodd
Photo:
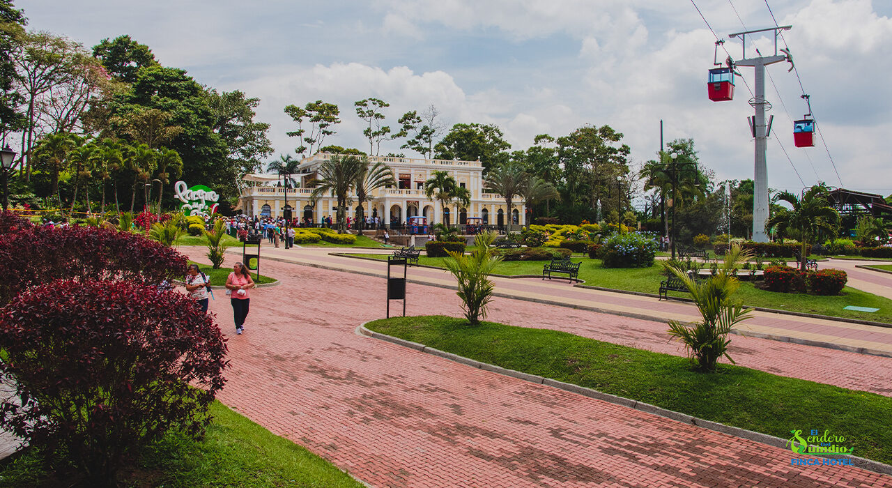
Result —
M 265 262 L 283 285 L 252 292 L 244 335 L 229 335 L 232 369 L 220 400 L 368 484 L 892 486 L 892 477 L 854 467 L 791 467 L 787 450 L 355 335 L 359 323 L 383 315 L 380 278 Z M 211 310 L 231 334 L 231 308 L 215 293 Z M 450 290 L 410 293 L 409 314 L 458 312 Z M 648 330 L 643 320 L 508 299 L 494 302 L 491 318 L 564 323 L 590 336 L 604 334 L 592 324 L 612 325 L 631 343 Z M 766 344 L 790 346 L 738 342 L 750 350 L 740 359 L 765 364 L 777 354 L 762 351 Z M 851 359 L 798 347 L 787 360 L 801 361 L 800 371 L 814 368 L 809 352 Z

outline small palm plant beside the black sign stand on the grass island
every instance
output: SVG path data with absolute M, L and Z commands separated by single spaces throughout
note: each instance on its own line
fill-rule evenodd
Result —
M 450 257 L 443 261 L 446 269 L 458 280 L 458 297 L 464 303 L 465 317 L 472 326 L 480 324 L 481 318 L 486 318 L 486 305 L 492 301 L 495 284 L 489 277 L 502 260 L 491 247 L 495 238 L 495 232 L 482 232 L 474 239 L 474 252 L 466 256 L 449 251 Z

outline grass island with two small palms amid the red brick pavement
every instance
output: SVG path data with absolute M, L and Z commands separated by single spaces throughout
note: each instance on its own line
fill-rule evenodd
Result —
M 855 456 L 892 462 L 892 429 L 878 421 L 892 418 L 892 398 L 878 394 L 727 364 L 716 374 L 697 373 L 686 358 L 548 329 L 491 322 L 470 327 L 465 319 L 442 316 L 389 318 L 366 327 L 502 368 L 782 439 L 789 438 L 791 429 L 826 429 L 845 436 Z

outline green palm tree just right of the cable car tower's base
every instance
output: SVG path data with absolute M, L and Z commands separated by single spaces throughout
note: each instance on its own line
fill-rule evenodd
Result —
M 765 230 L 777 233 L 780 237 L 797 233 L 802 249 L 799 267 L 805 271 L 805 254 L 811 249 L 814 238 L 822 232 L 832 235 L 839 227 L 839 213 L 827 202 L 827 187 L 815 185 L 805 189 L 801 196 L 780 192 L 774 202 L 786 202 L 792 207 L 778 211 L 765 222 Z

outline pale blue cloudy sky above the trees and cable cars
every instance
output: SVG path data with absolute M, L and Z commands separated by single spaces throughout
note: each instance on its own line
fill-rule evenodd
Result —
M 773 26 L 764 0 L 695 0 L 719 37 Z M 691 137 L 718 178 L 753 177 L 752 109 L 738 82 L 732 102 L 706 97 L 714 37 L 690 0 L 17 0 L 30 29 L 92 46 L 129 34 L 167 66 L 199 82 L 260 97 L 277 153 L 289 103 L 338 103 L 343 123 L 326 144 L 366 147 L 353 102 L 391 103 L 392 125 L 430 103 L 448 123 L 495 123 L 512 149 L 533 136 L 566 135 L 589 123 L 624 133 L 634 161 L 665 140 Z M 769 0 L 826 140 L 793 145 L 805 103 L 787 63 L 768 69 L 773 104 L 769 186 L 818 180 L 892 194 L 892 2 Z M 771 42 L 756 43 L 767 54 Z M 735 59 L 739 42 L 725 46 Z M 754 54 L 747 52 L 747 54 Z M 721 57 L 724 57 L 722 54 Z M 885 60 L 885 61 L 884 61 Z M 750 87 L 753 70 L 741 68 Z M 773 83 L 772 83 L 773 82 Z M 775 89 L 776 87 L 776 89 Z M 791 119 L 792 118 L 792 119 Z M 784 154 L 786 149 L 788 157 Z M 382 153 L 399 152 L 399 145 Z M 407 153 L 407 155 L 415 155 Z M 798 172 L 798 175 L 797 175 Z M 800 178 L 801 181 L 800 182 Z

